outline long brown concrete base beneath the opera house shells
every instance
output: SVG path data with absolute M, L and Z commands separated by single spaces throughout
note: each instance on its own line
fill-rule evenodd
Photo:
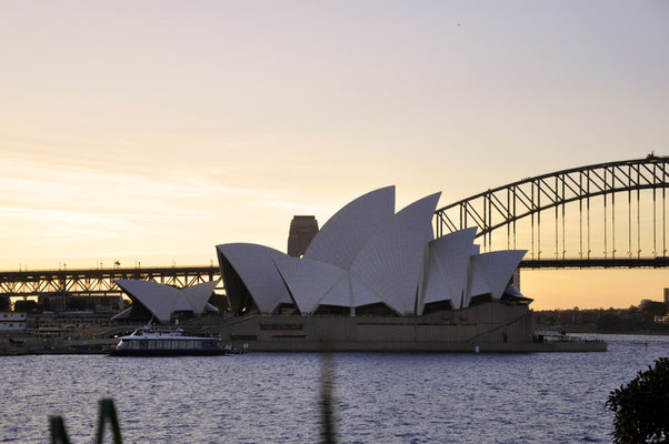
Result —
M 537 342 L 527 305 L 486 302 L 422 316 L 247 315 L 206 330 L 249 352 L 603 352 L 606 342 Z

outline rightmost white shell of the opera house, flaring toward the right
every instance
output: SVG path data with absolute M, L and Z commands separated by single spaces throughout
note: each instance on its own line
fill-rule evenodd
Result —
M 499 301 L 526 253 L 527 250 L 506 250 L 471 256 L 473 281 L 470 295 L 477 295 L 473 283 L 482 280 L 490 290 L 490 297 Z

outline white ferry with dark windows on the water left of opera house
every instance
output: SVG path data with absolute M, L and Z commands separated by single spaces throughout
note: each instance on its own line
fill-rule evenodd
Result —
M 182 330 L 160 332 L 150 325 L 120 339 L 112 356 L 216 356 L 227 354 L 217 336 L 187 336 Z

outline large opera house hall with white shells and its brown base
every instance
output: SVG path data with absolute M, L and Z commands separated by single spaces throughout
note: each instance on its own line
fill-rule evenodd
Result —
M 480 253 L 476 229 L 435 239 L 440 193 L 396 213 L 395 186 L 337 212 L 289 256 L 217 246 L 233 316 L 220 333 L 267 351 L 522 351 L 531 300 L 512 283 L 526 251 Z

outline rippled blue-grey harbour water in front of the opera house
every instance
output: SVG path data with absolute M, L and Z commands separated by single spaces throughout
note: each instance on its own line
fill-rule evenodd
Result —
M 599 337 L 608 352 L 336 354 L 339 442 L 610 442 L 609 392 L 669 356 L 669 336 Z M 48 442 L 54 414 L 72 442 L 91 442 L 101 397 L 114 400 L 126 443 L 318 442 L 320 363 L 0 356 L 0 443 Z

